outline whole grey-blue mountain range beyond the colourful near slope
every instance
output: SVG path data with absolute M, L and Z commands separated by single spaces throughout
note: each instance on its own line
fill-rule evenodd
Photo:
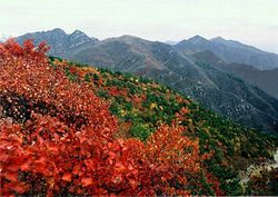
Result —
M 67 35 L 53 29 L 17 40 L 29 38 L 36 43 L 47 41 L 50 56 L 152 78 L 232 120 L 264 131 L 278 130 L 278 55 L 200 36 L 170 46 L 132 36 L 100 41 L 79 30 Z M 267 77 L 268 72 L 274 77 Z

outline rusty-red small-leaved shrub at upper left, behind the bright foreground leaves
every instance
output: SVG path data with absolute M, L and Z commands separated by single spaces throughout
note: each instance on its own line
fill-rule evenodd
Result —
M 6 112 L 11 111 L 7 106 L 16 106 L 12 111 L 22 111 L 24 107 L 24 117 L 33 110 L 56 116 L 76 127 L 93 126 L 103 135 L 116 130 L 116 120 L 109 115 L 107 104 L 95 95 L 89 85 L 69 81 L 61 68 L 54 69 L 49 65 L 48 58 L 41 53 L 43 49 L 39 47 L 37 51 L 30 49 L 30 43 L 28 46 L 19 50 L 18 43 L 8 41 L 0 48 L 0 90 L 4 97 L 2 102 L 7 104 Z M 14 98 L 24 104 L 14 105 Z M 21 120 L 20 115 L 13 118 Z

